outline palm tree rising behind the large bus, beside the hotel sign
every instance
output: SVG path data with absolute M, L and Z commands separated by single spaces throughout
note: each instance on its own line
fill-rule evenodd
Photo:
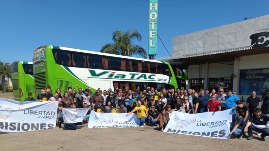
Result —
M 146 50 L 139 45 L 134 45 L 132 43 L 132 40 L 134 39 L 137 39 L 138 41 L 142 40 L 142 37 L 137 30 L 129 29 L 124 32 L 116 30 L 112 34 L 112 40 L 114 40 L 114 43 L 107 43 L 101 48 L 100 52 L 122 56 L 132 56 L 136 54 L 146 59 Z

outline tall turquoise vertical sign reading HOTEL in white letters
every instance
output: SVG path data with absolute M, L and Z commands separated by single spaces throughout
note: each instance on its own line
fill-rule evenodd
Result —
M 149 55 L 157 53 L 158 0 L 149 0 Z

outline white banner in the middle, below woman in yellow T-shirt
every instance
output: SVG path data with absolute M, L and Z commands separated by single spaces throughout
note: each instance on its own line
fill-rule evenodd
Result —
M 88 127 L 108 128 L 108 127 L 143 127 L 136 124 L 137 115 L 127 113 L 96 113 L 91 112 Z

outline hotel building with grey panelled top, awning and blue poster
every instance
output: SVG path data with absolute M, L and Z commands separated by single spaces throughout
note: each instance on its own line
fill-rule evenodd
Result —
M 231 88 L 244 100 L 269 90 L 269 15 L 173 37 L 172 57 L 189 72 L 190 88 Z

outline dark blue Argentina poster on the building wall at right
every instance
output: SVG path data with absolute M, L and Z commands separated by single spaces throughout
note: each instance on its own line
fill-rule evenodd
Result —
M 239 94 L 251 95 L 253 90 L 256 95 L 265 95 L 269 90 L 269 68 L 240 70 Z

